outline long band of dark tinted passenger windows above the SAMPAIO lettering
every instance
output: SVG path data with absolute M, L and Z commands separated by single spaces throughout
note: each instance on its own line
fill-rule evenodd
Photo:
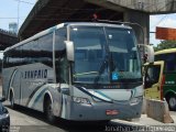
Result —
M 4 68 L 34 63 L 53 66 L 53 34 L 42 36 L 4 53 Z

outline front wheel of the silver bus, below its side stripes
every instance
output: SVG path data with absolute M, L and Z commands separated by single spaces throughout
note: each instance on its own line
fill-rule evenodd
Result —
M 45 105 L 44 105 L 44 112 L 45 112 L 45 116 L 46 116 L 46 119 L 50 123 L 55 123 L 55 116 L 53 113 L 53 108 L 52 108 L 52 101 L 51 99 L 47 99 Z

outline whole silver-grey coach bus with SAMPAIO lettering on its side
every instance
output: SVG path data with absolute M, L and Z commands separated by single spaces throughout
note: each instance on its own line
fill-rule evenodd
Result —
M 51 122 L 139 118 L 139 53 L 130 26 L 62 23 L 4 51 L 2 94 Z

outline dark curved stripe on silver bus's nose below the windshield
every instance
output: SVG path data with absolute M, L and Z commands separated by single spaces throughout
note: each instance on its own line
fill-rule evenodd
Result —
M 91 92 L 85 90 L 85 88 L 82 88 L 82 87 L 78 87 L 78 86 L 77 86 L 76 88 L 78 88 L 80 91 L 85 92 L 86 95 L 88 95 L 88 96 L 90 96 L 90 97 L 92 97 L 92 98 L 95 98 L 95 99 L 98 99 L 98 100 L 105 101 L 105 102 L 109 102 L 109 103 L 113 103 L 112 100 L 105 100 L 105 99 L 102 99 L 102 98 L 100 98 L 100 97 L 97 97 L 97 96 L 92 95 Z

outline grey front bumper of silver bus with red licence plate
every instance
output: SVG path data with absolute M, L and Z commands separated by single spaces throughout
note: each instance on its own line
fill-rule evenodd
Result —
M 141 117 L 142 101 L 136 105 L 97 102 L 94 105 L 72 102 L 66 119 L 74 121 L 95 121 L 112 119 L 134 119 Z

